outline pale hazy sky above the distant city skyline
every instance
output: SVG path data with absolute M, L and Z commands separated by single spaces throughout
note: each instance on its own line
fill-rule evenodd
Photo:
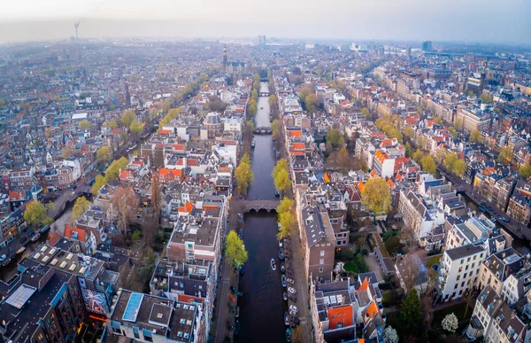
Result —
M 531 44 L 531 0 L 5 0 L 0 42 L 102 36 Z

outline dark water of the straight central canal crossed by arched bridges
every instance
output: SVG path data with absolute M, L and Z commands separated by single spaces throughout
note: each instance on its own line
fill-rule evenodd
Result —
M 267 82 L 260 83 L 260 92 L 268 92 Z M 270 126 L 269 102 L 267 97 L 258 98 L 258 113 L 255 127 Z M 255 137 L 252 153 L 254 181 L 250 184 L 248 199 L 275 199 L 271 172 L 275 164 L 272 137 Z M 278 241 L 276 240 L 276 214 L 251 213 L 245 215 L 243 241 L 249 252 L 245 274 L 240 277 L 239 289 L 243 296 L 238 299 L 240 307 L 240 334 L 235 339 L 242 342 L 285 341 L 283 316 L 287 309 L 282 299 L 281 272 L 273 271 L 270 260 L 278 263 Z

